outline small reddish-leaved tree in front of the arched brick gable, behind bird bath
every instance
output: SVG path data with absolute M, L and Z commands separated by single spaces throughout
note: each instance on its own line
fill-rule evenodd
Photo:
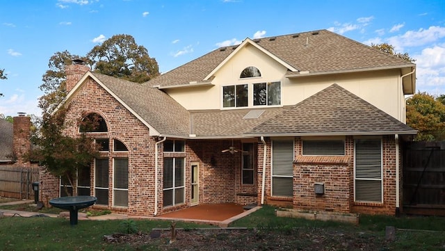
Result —
M 99 146 L 86 133 L 81 133 L 78 138 L 63 134 L 67 126 L 65 115 L 69 109 L 59 108 L 54 114 L 44 113 L 38 132 L 31 137 L 31 142 L 39 147 L 31 150 L 27 158 L 38 161 L 51 175 L 65 178 L 73 188 L 73 195 L 77 195 L 77 173 L 80 168 L 90 168 Z M 81 118 L 77 123 L 79 126 L 86 123 L 90 127 L 97 127 L 95 122 L 86 122 Z M 66 187 L 65 192 L 70 195 Z

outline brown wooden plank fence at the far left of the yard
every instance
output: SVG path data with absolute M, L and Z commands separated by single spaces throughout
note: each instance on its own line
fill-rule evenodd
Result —
M 39 181 L 39 168 L 22 168 L 0 165 L 0 196 L 33 199 L 32 183 Z

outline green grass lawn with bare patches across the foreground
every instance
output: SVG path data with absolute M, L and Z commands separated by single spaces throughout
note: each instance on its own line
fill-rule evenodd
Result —
M 0 250 L 445 250 L 442 217 L 360 216 L 359 225 L 350 225 L 280 218 L 274 210 L 264 207 L 232 223 L 247 227 L 241 230 L 197 231 L 210 226 L 178 222 L 184 230 L 172 244 L 168 231 L 150 237 L 153 228 L 168 229 L 169 221 L 81 220 L 71 227 L 63 218 L 1 218 Z M 385 241 L 386 226 L 398 229 L 396 241 Z M 129 230 L 137 233 L 104 241 L 104 235 Z

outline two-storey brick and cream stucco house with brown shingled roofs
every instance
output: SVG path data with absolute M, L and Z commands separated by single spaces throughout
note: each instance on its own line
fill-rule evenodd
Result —
M 67 121 L 102 152 L 79 173 L 98 209 L 156 216 L 234 202 L 394 215 L 416 65 L 327 30 L 222 47 L 138 84 L 67 67 Z M 41 172 L 46 198 L 63 181 Z

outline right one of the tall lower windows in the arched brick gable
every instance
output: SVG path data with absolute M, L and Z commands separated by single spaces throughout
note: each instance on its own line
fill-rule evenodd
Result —
M 114 159 L 114 205 L 128 207 L 128 159 Z

